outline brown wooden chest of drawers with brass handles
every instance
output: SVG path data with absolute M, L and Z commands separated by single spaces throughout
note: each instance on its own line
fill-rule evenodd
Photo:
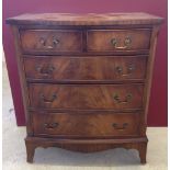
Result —
M 36 147 L 135 148 L 146 162 L 147 112 L 162 19 L 146 13 L 23 14 L 8 19 Z

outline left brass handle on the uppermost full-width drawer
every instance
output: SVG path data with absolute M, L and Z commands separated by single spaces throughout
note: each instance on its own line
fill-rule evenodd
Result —
M 49 65 L 47 67 L 36 65 L 35 70 L 42 76 L 48 77 L 52 76 L 53 71 L 55 70 L 55 67 L 53 65 Z

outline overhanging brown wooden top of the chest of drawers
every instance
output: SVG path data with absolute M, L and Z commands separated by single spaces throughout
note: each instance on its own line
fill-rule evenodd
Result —
M 148 13 L 36 13 L 22 14 L 7 20 L 9 24 L 48 24 L 48 25 L 124 25 L 160 24 L 162 18 Z

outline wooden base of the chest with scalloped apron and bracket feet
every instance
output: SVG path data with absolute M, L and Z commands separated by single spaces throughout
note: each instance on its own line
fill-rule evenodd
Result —
M 137 149 L 141 163 L 146 163 L 147 138 L 126 139 L 56 139 L 43 137 L 26 137 L 26 149 L 30 150 L 27 161 L 33 162 L 34 151 L 37 147 L 59 147 L 80 152 L 94 152 L 113 148 Z M 32 154 L 32 155 L 31 155 Z

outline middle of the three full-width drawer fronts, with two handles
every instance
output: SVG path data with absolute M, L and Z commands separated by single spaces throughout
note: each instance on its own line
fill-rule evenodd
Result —
M 30 84 L 31 107 L 141 109 L 141 84 Z

